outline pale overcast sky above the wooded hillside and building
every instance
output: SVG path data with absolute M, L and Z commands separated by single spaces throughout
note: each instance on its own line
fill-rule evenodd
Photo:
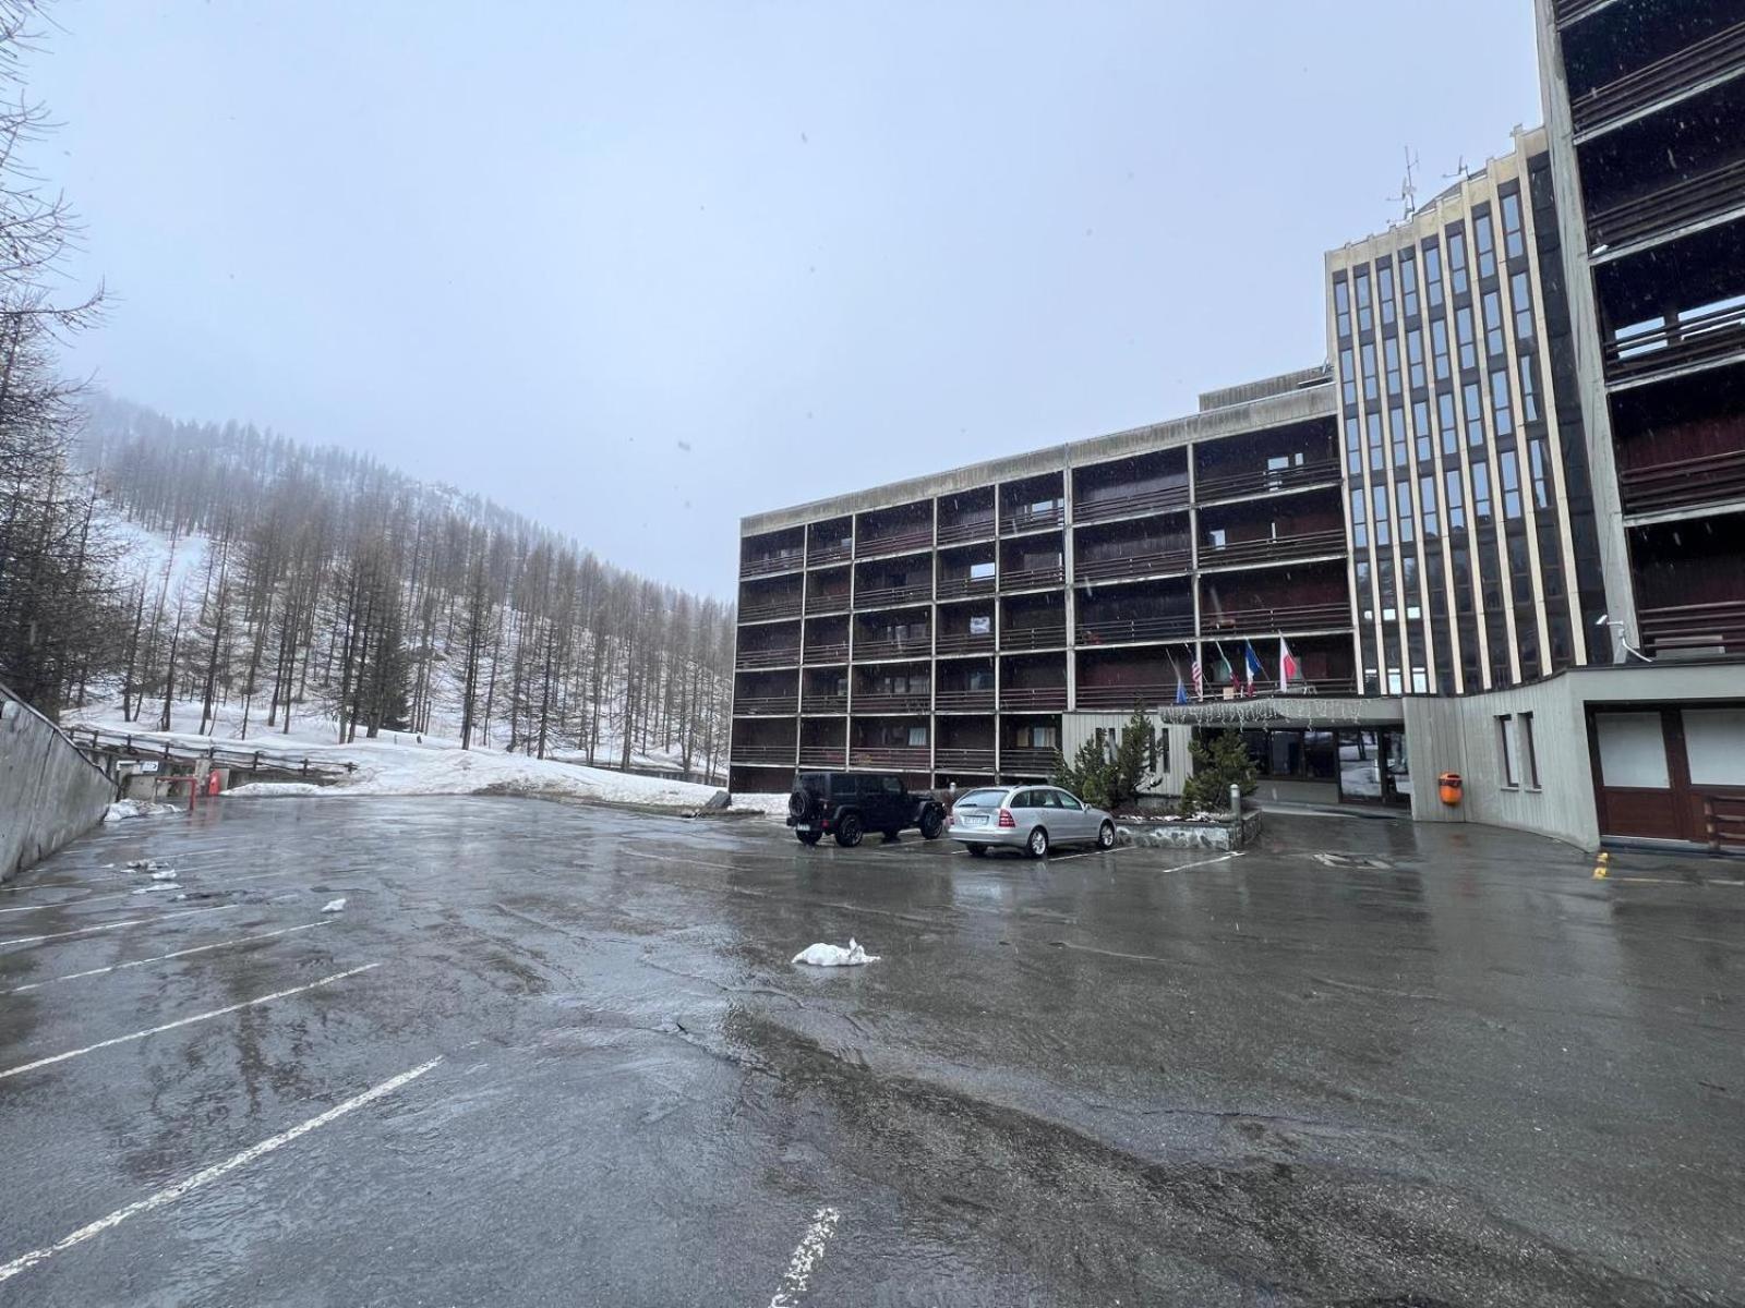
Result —
M 729 596 L 736 523 L 1324 358 L 1321 253 L 1539 120 L 1527 0 L 63 0 L 40 152 L 174 417 Z

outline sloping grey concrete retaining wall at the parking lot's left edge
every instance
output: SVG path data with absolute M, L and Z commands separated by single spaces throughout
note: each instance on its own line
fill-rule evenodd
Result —
M 0 685 L 0 881 L 84 835 L 112 799 L 103 771 Z

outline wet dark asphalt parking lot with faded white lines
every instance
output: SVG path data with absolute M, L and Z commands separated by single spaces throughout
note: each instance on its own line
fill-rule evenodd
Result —
M 122 823 L 0 889 L 0 1305 L 1745 1303 L 1742 872 Z

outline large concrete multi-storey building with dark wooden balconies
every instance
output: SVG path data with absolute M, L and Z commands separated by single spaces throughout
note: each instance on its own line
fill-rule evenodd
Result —
M 1269 799 L 1745 842 L 1729 17 L 1541 0 L 1548 127 L 1324 256 L 1328 364 L 747 518 L 731 785 L 1044 776 L 1143 706 L 1162 794 L 1242 731 Z

